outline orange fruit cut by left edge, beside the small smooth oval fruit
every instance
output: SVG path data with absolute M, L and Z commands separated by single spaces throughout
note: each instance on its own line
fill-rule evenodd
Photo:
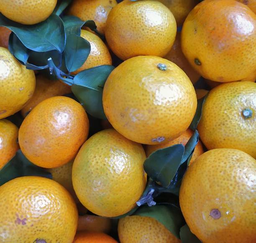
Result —
M 9 120 L 0 120 L 0 169 L 19 149 L 18 128 Z

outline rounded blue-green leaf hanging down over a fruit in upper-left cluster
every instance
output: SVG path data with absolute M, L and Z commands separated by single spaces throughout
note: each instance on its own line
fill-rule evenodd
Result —
M 89 41 L 77 35 L 68 35 L 64 56 L 67 70 L 71 73 L 80 68 L 91 51 Z

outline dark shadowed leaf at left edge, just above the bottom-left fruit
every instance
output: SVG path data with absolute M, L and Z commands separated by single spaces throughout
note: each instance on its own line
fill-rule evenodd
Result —
M 0 170 L 0 185 L 14 178 L 26 175 L 52 178 L 51 173 L 31 163 L 21 150 L 18 150 L 16 155 Z

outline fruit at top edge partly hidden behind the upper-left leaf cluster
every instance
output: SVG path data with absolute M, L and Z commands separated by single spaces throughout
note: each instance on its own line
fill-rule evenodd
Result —
M 94 20 L 97 30 L 105 33 L 108 14 L 117 5 L 116 0 L 73 0 L 69 14 L 81 20 Z

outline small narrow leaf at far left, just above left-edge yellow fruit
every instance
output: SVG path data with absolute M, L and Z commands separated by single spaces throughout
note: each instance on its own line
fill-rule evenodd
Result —
M 10 34 L 9 38 L 9 50 L 10 53 L 12 53 L 15 58 L 20 60 L 23 65 L 27 63 L 29 50 L 25 45 L 22 44 L 17 35 L 15 35 L 13 32 Z

